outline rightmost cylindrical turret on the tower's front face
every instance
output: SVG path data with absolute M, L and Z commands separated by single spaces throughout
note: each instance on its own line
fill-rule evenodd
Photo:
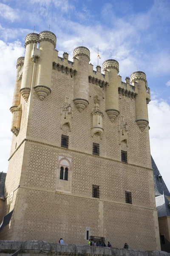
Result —
M 141 131 L 148 125 L 146 90 L 146 75 L 142 71 L 133 72 L 130 76 L 131 83 L 136 82 L 138 94 L 135 97 L 136 123 Z

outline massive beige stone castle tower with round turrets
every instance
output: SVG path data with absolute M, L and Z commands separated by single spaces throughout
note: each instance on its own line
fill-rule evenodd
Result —
M 39 43 L 39 46 L 37 46 Z M 58 56 L 49 31 L 26 36 L 11 106 L 14 133 L 3 239 L 160 249 L 150 157 L 146 75 L 122 82 L 119 63 Z M 130 80 L 132 84 L 130 84 Z

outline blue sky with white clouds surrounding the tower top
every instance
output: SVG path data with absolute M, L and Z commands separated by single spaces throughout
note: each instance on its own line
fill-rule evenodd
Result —
M 57 50 L 72 52 L 83 45 L 91 63 L 119 61 L 122 81 L 138 70 L 147 75 L 151 152 L 170 189 L 170 0 L 1 0 L 0 2 L 0 129 L 1 159 L 7 170 L 11 144 L 11 107 L 16 60 L 24 55 L 28 33 L 49 29 L 57 36 Z

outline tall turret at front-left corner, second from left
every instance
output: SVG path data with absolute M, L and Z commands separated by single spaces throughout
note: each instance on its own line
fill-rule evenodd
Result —
M 25 60 L 23 66 L 23 77 L 21 82 L 20 93 L 27 102 L 30 90 L 31 90 L 31 82 L 32 82 L 32 71 L 33 71 L 33 61 L 31 59 L 31 52 L 34 47 L 34 43 L 38 41 L 38 34 L 30 33 L 26 36 L 25 40 Z

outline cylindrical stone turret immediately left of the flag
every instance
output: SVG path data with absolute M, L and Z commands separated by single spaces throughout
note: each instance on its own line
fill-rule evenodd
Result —
M 74 77 L 74 104 L 79 112 L 82 112 L 88 105 L 88 63 L 90 51 L 86 47 L 74 49 L 73 57 L 78 59 L 78 70 Z

